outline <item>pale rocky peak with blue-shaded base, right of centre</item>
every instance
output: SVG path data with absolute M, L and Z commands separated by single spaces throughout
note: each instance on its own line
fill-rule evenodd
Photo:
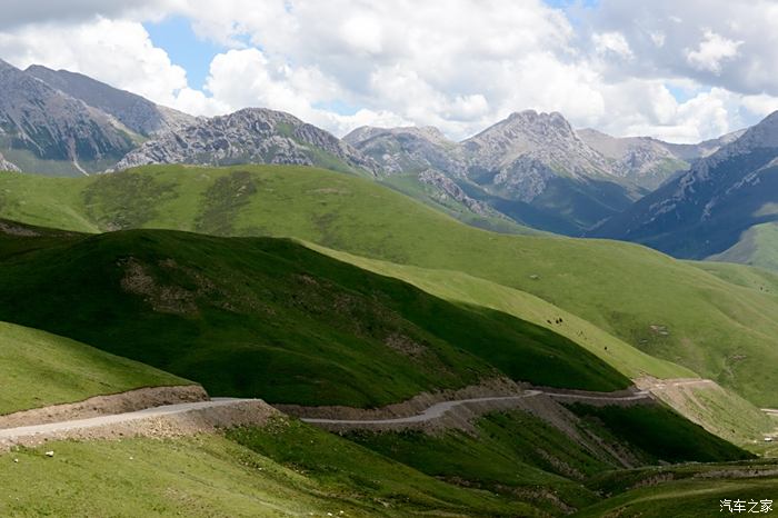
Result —
M 387 175 L 426 173 L 439 196 L 462 198 L 476 213 L 578 235 L 628 207 L 637 186 L 612 160 L 581 140 L 559 113 L 513 113 L 481 133 L 452 142 L 435 128 L 359 128 L 346 138 Z M 443 181 L 447 177 L 449 181 Z M 421 177 L 420 177 L 421 180 Z M 455 192 L 453 188 L 460 192 Z

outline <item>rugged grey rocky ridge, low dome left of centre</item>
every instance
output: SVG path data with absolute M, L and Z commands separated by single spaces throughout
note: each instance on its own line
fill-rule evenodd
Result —
M 289 113 L 260 108 L 163 133 L 128 153 L 114 169 L 148 163 L 288 163 L 378 171 L 372 160 L 331 133 Z

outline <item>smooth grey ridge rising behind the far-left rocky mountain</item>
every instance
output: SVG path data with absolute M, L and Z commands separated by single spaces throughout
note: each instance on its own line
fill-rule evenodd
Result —
M 161 107 L 80 73 L 33 64 L 26 73 L 84 103 L 116 117 L 137 133 L 150 137 L 194 122 L 194 117 Z

